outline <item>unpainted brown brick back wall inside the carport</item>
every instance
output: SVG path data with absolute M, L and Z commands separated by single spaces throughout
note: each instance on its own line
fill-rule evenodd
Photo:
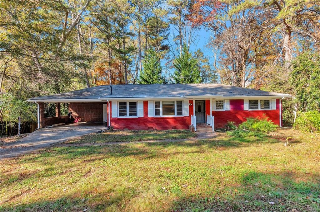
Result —
M 70 102 L 69 111 L 81 121 L 103 121 L 103 104 L 106 102 Z

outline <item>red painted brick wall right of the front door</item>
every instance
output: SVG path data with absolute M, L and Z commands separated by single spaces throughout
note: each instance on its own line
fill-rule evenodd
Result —
M 224 128 L 228 121 L 234 121 L 236 124 L 241 124 L 248 117 L 257 117 L 266 114 L 269 120 L 279 125 L 280 123 L 280 99 L 276 99 L 276 110 L 255 110 L 245 111 L 243 110 L 243 99 L 230 99 L 229 111 L 212 111 L 214 116 L 215 128 Z M 207 106 L 207 105 L 206 105 Z M 210 103 L 209 103 L 210 107 Z

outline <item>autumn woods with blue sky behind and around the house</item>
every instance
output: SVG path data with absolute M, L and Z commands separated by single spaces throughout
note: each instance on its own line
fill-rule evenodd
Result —
M 320 108 L 319 3 L 1 0 L 1 121 L 36 121 L 36 105 L 25 101 L 35 96 L 202 82 L 289 93 L 283 118 L 291 124 L 293 111 Z M 200 28 L 213 59 L 192 48 Z

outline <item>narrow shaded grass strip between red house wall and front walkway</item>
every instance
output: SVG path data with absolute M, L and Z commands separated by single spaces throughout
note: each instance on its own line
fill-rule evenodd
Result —
M 85 135 L 80 139 L 72 139 L 65 143 L 107 143 L 124 141 L 148 141 L 166 139 L 186 139 L 195 137 L 190 130 L 110 130 L 103 133 Z

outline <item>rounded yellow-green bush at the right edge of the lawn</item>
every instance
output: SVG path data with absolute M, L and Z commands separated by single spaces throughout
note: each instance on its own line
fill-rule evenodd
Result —
M 317 111 L 300 113 L 293 124 L 293 128 L 306 132 L 320 131 L 320 113 Z

